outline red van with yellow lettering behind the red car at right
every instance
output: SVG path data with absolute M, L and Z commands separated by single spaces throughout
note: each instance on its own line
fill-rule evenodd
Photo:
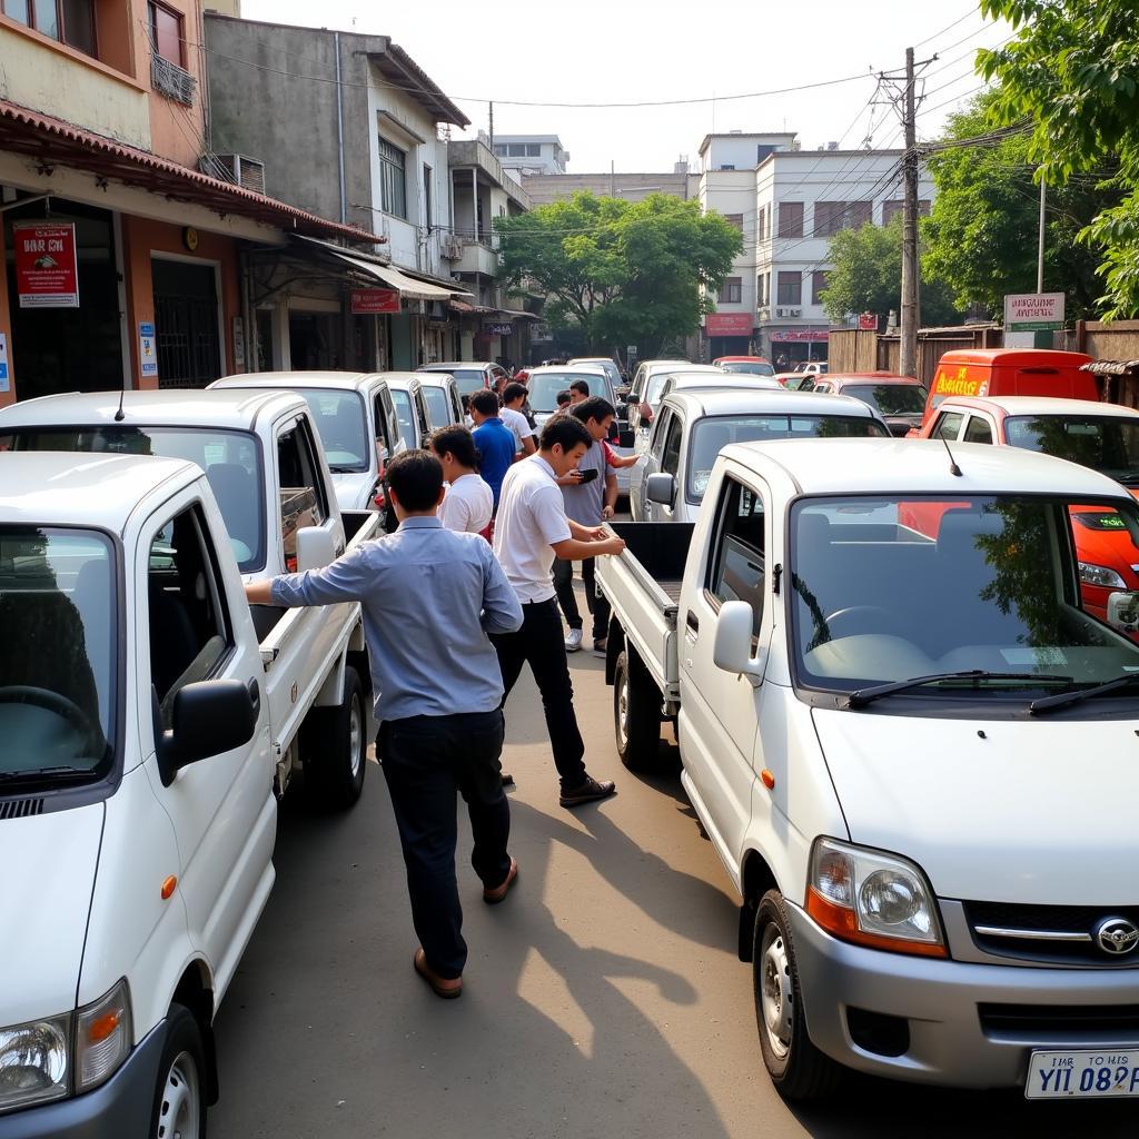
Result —
M 960 349 L 937 362 L 929 385 L 924 427 L 934 408 L 951 395 L 1057 395 L 1071 400 L 1098 400 L 1099 386 L 1089 371 L 1083 352 L 1051 349 Z M 917 434 L 916 432 L 913 434 Z

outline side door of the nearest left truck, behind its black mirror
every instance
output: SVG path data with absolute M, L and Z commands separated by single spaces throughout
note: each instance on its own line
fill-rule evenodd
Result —
M 178 891 L 190 936 L 216 969 L 236 960 L 272 882 L 277 808 L 261 656 L 247 616 L 245 636 L 235 634 L 241 626 L 227 600 L 213 533 L 192 489 L 151 517 L 137 552 L 136 605 L 142 630 L 139 734 L 148 755 L 155 754 L 157 734 L 171 726 L 174 697 L 186 685 L 235 679 L 257 686 L 261 700 L 247 744 L 182 768 L 169 787 L 151 768 L 155 795 L 178 839 Z

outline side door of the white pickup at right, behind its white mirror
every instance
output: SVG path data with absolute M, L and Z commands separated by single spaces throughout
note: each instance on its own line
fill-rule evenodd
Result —
M 755 642 L 771 636 L 765 551 L 770 546 L 770 492 L 761 480 L 747 484 L 727 474 L 720 485 L 715 523 L 703 580 L 686 583 L 677 617 L 680 645 L 680 739 L 685 769 L 704 801 L 731 859 L 751 818 L 759 756 L 756 689 L 731 677 L 712 658 L 715 626 L 724 601 L 746 601 Z

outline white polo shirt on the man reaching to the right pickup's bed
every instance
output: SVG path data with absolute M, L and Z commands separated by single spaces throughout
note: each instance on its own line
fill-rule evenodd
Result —
M 554 468 L 538 453 L 516 462 L 499 493 L 494 556 L 519 601 L 555 596 L 552 544 L 572 536 Z

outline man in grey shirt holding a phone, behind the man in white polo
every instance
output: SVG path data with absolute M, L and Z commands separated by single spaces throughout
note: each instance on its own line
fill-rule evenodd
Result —
M 617 502 L 617 476 L 605 446 L 616 411 L 608 400 L 591 396 L 581 403 L 575 403 L 570 413 L 585 425 L 593 439 L 593 446 L 585 452 L 577 469 L 559 478 L 558 484 L 562 486 L 566 517 L 592 530 L 613 517 Z M 588 476 L 588 472 L 595 474 Z M 593 616 L 593 653 L 605 656 L 609 634 L 609 603 L 604 597 L 597 596 L 595 565 L 593 558 L 585 558 L 582 562 L 581 580 L 585 583 L 585 605 Z M 558 605 L 562 606 L 562 613 L 570 626 L 566 652 L 576 653 L 581 648 L 582 620 L 577 612 L 577 598 L 573 591 L 573 562 L 558 558 L 554 563 L 554 588 L 557 590 Z

